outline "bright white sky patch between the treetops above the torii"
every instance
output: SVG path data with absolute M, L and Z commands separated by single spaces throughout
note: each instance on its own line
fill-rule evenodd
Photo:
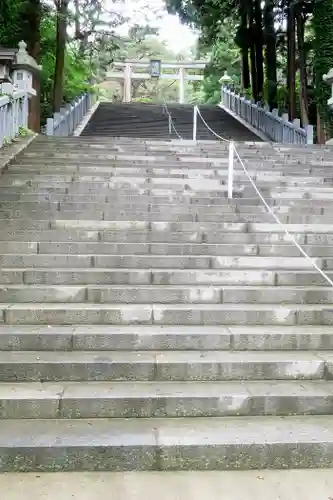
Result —
M 123 9 L 124 14 L 134 23 L 145 24 L 146 17 L 151 26 L 158 27 L 160 38 L 174 52 L 189 49 L 196 41 L 196 35 L 188 26 L 182 25 L 177 16 L 166 12 L 163 0 L 124 0 Z M 161 18 L 154 13 L 155 10 L 159 11 Z M 124 31 L 126 32 L 126 27 L 122 29 L 123 33 Z

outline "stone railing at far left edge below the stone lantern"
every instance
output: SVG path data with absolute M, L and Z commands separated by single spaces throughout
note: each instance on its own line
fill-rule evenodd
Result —
M 0 148 L 28 128 L 29 103 L 25 90 L 0 94 Z

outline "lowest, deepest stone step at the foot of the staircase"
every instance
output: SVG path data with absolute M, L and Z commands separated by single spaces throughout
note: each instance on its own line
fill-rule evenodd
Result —
M 331 416 L 28 419 L 0 428 L 2 472 L 330 467 L 332 442 Z

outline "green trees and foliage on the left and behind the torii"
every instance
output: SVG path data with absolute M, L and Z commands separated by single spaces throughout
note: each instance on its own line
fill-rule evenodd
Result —
M 40 78 L 34 82 L 40 97 L 40 102 L 35 101 L 32 106 L 36 130 L 52 112 L 91 90 L 92 83 L 103 82 L 113 60 L 179 57 L 159 40 L 157 30 L 148 22 L 133 24 L 125 19 L 120 14 L 121 3 L 122 0 L 1 0 L 0 45 L 17 47 L 20 40 L 25 40 L 42 68 Z M 128 35 L 116 35 L 117 28 L 124 24 L 130 28 Z M 100 88 L 107 98 L 120 98 L 119 83 L 105 82 Z M 132 95 L 144 102 L 176 101 L 178 83 L 133 80 Z

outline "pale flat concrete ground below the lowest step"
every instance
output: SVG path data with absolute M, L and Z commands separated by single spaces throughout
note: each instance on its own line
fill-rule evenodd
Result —
M 331 469 L 2 474 L 6 500 L 330 500 Z

